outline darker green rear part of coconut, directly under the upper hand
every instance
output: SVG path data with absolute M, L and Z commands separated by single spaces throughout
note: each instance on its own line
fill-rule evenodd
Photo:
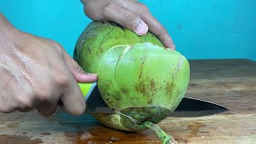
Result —
M 91 22 L 79 36 L 73 57 L 86 72 L 97 73 L 102 56 L 111 47 L 142 42 L 163 46 L 151 33 L 139 37 L 114 22 Z

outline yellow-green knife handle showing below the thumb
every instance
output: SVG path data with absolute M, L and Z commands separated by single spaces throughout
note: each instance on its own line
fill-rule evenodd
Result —
M 79 83 L 78 86 L 80 87 L 80 90 L 82 91 L 82 95 L 84 98 L 87 99 L 90 97 L 91 92 L 94 90 L 94 87 L 97 85 L 97 82 L 94 83 Z

